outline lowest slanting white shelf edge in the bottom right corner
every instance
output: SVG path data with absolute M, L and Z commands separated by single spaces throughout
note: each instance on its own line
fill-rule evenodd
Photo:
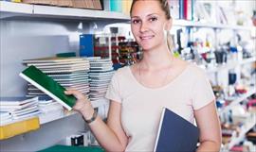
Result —
M 238 137 L 233 137 L 229 142 L 229 144 L 226 145 L 228 150 L 230 150 L 235 144 L 239 144 L 241 141 L 243 141 L 248 130 L 250 130 L 255 125 L 256 125 L 256 113 L 254 113 L 252 117 L 249 120 L 247 120 L 245 125 L 242 127 L 242 130 L 240 131 Z

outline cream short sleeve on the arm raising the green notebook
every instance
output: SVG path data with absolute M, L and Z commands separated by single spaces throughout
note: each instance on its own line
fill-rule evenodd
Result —
M 118 72 L 116 72 L 114 76 L 112 76 L 105 97 L 109 100 L 121 103 Z

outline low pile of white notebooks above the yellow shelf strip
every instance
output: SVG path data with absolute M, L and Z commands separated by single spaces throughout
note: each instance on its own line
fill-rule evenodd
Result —
M 12 120 L 39 115 L 41 111 L 38 107 L 38 97 L 1 97 L 0 113 L 1 126 Z

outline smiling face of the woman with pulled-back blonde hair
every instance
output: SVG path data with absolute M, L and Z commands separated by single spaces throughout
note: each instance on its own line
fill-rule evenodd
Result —
M 132 32 L 143 50 L 166 45 L 164 30 L 170 30 L 171 22 L 157 0 L 139 0 L 131 13 Z

